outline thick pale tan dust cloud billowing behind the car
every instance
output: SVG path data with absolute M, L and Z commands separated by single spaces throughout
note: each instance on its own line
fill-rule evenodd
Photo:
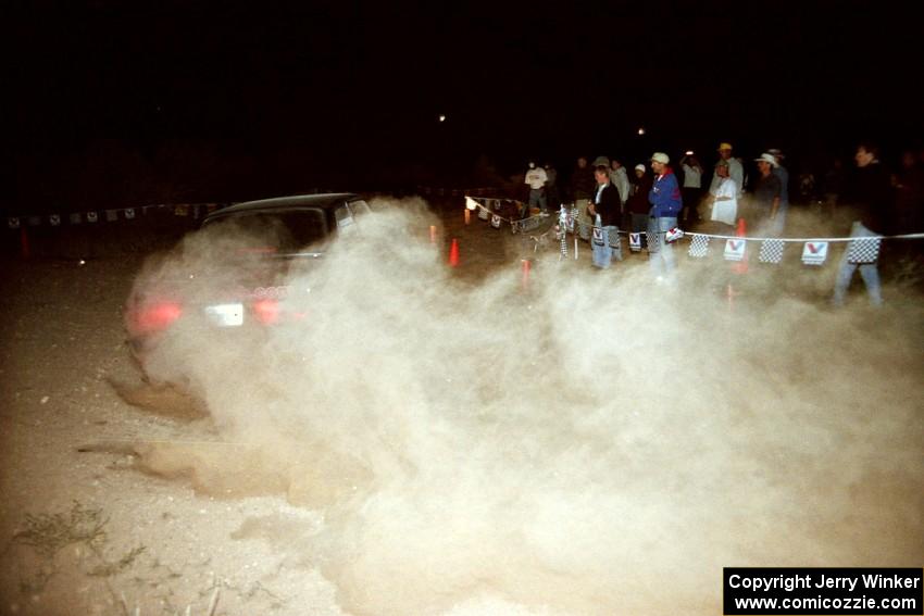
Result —
M 303 320 L 180 329 L 149 363 L 245 449 L 200 487 L 246 470 L 323 513 L 277 539 L 345 611 L 714 614 L 723 566 L 920 565 L 920 302 L 729 313 L 709 268 L 551 261 L 528 293 L 514 264 L 474 285 L 422 202 L 378 205 L 277 280 Z M 158 275 L 215 293 L 233 243 Z

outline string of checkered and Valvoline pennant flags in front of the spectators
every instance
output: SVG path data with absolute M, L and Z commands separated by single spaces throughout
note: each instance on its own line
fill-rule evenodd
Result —
M 465 204 L 469 209 L 478 209 L 478 218 L 490 221 L 495 228 L 502 224 L 509 224 L 512 232 L 516 234 L 538 227 L 544 216 L 528 216 L 526 218 L 513 218 L 504 216 L 499 212 L 509 212 L 512 208 L 521 208 L 522 202 L 513 199 L 492 199 L 465 196 Z M 519 211 L 519 210 L 517 210 Z M 623 231 L 615 227 L 600 227 L 579 221 L 577 210 L 562 206 L 559 214 L 557 239 L 561 242 L 561 255 L 567 256 L 567 241 L 565 235 L 574 234 L 575 259 L 577 259 L 577 238 L 590 240 L 598 243 L 604 235 L 609 235 L 609 244 L 614 251 L 621 251 L 619 236 L 626 236 L 632 252 L 642 250 L 642 236 L 647 244 L 654 250 L 660 242 L 653 241 L 649 231 L 634 232 Z M 614 241 L 615 237 L 615 241 Z M 783 262 L 783 255 L 788 244 L 802 244 L 801 261 L 806 265 L 824 265 L 828 257 L 831 244 L 849 242 L 847 259 L 850 263 L 875 263 L 879 256 L 883 240 L 897 239 L 924 239 L 924 234 L 904 234 L 894 236 L 870 236 L 870 237 L 817 237 L 817 238 L 770 238 L 770 237 L 739 237 L 717 234 L 685 232 L 680 229 L 672 229 L 666 232 L 667 242 L 679 241 L 683 238 L 689 240 L 687 254 L 692 259 L 703 259 L 710 254 L 710 244 L 720 243 L 724 240 L 722 255 L 726 261 L 744 261 L 749 254 L 748 244 L 759 244 L 758 261 L 760 263 L 778 264 Z M 536 239 L 536 238 L 534 238 Z M 713 242 L 715 240 L 715 242 Z M 538 242 L 537 242 L 538 247 Z

